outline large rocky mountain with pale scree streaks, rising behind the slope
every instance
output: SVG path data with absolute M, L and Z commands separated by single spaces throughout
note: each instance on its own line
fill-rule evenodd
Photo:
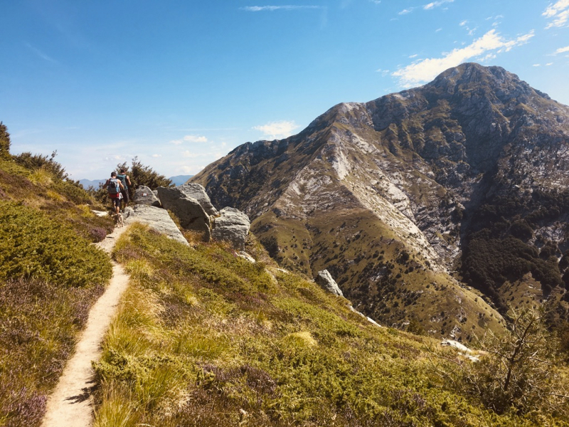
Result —
M 286 268 L 324 268 L 384 325 L 462 339 L 509 306 L 569 301 L 569 107 L 500 67 L 332 107 L 192 181 Z M 474 289 L 473 289 L 474 288 Z

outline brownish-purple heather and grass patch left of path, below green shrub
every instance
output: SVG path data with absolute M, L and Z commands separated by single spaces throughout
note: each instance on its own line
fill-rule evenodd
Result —
M 0 426 L 39 426 L 102 285 L 0 281 Z

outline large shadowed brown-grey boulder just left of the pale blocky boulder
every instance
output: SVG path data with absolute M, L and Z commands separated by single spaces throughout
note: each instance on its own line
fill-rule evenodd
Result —
M 180 225 L 183 228 L 201 231 L 203 240 L 210 241 L 210 218 L 196 199 L 187 196 L 179 187 L 158 187 L 158 198 L 164 209 L 172 211 L 180 218 Z

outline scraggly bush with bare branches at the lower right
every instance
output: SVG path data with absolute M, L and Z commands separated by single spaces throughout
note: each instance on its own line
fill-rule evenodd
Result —
M 440 372 L 460 391 L 496 413 L 569 413 L 569 396 L 560 379 L 558 345 L 546 329 L 543 312 L 510 310 L 507 334 L 487 331 L 479 340 L 479 362 L 466 358 Z

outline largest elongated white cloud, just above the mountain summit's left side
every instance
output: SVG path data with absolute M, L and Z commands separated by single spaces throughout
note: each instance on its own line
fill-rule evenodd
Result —
M 471 60 L 489 60 L 494 58 L 496 54 L 510 51 L 516 46 L 521 46 L 533 37 L 533 30 L 523 36 L 507 40 L 496 33 L 496 30 L 490 30 L 484 36 L 477 38 L 469 46 L 454 49 L 449 53 L 445 53 L 442 58 L 427 58 L 419 60 L 406 67 L 392 73 L 393 77 L 398 78 L 399 84 L 403 88 L 411 88 L 420 83 L 425 83 L 437 77 L 447 68 L 456 67 L 457 65 Z

